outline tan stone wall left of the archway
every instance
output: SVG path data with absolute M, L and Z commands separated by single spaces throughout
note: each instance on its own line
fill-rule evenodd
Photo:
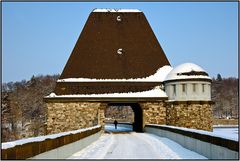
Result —
M 101 103 L 48 102 L 47 133 L 54 134 L 99 124 Z

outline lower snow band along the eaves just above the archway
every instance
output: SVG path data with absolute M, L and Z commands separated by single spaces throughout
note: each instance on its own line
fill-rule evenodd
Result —
M 167 94 L 161 90 L 159 86 L 154 89 L 143 92 L 128 92 L 128 93 L 104 93 L 104 94 L 74 94 L 74 95 L 56 95 L 51 93 L 47 98 L 139 98 L 139 97 L 154 97 L 162 98 L 167 97 Z

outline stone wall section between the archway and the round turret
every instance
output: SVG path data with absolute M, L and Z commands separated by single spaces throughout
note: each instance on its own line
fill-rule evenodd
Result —
M 140 104 L 143 109 L 143 126 L 145 124 L 166 124 L 166 107 L 163 101 Z

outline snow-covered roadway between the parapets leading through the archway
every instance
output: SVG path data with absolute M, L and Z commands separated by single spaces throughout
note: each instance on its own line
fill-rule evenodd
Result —
M 132 132 L 126 127 L 115 130 L 113 125 L 105 129 L 118 133 L 103 134 L 69 159 L 207 159 L 167 138 Z

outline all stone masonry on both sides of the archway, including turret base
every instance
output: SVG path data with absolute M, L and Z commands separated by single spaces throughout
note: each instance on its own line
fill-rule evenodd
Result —
M 101 102 L 48 102 L 47 134 L 102 125 L 105 108 Z M 145 124 L 173 125 L 212 131 L 210 103 L 142 102 L 143 127 Z

